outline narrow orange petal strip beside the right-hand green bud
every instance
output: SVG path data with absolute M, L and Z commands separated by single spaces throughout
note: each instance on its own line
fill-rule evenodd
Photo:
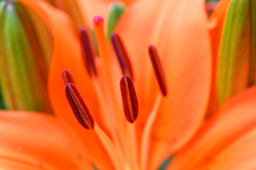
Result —
M 206 118 L 212 116 L 216 112 L 218 107 L 217 101 L 217 63 L 218 63 L 218 49 L 221 40 L 222 27 L 224 24 L 225 16 L 227 13 L 228 5 L 231 0 L 220 0 L 216 8 L 213 10 L 211 17 L 209 19 L 209 33 L 211 39 L 211 49 L 212 49 L 212 89 L 210 95 L 210 102 L 207 111 Z

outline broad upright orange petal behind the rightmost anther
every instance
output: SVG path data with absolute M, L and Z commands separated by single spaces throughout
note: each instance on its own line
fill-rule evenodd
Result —
M 124 13 L 117 32 L 135 69 L 138 138 L 158 91 L 147 46 L 155 44 L 162 59 L 168 94 L 152 127 L 149 162 L 156 169 L 190 139 L 207 108 L 211 55 L 204 1 L 138 1 Z

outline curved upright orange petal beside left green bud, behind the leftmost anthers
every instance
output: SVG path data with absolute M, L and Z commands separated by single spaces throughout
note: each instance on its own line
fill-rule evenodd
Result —
M 37 4 L 31 3 L 30 0 L 22 0 L 22 2 L 35 10 L 45 20 L 53 33 L 54 49 L 48 76 L 48 90 L 54 113 L 57 118 L 64 119 L 74 127 L 86 146 L 86 153 L 89 155 L 90 161 L 100 169 L 111 169 L 112 165 L 109 158 L 95 132 L 84 129 L 78 123 L 66 101 L 62 80 L 62 70 L 64 68 L 68 69 L 74 77 L 74 81 L 83 94 L 93 117 L 98 120 L 97 114 L 95 114 L 98 112 L 98 105 L 95 99 L 96 94 L 92 90 L 94 89 L 93 85 L 82 65 L 82 57 L 71 21 L 64 13 L 50 7 L 43 1 L 34 1 Z

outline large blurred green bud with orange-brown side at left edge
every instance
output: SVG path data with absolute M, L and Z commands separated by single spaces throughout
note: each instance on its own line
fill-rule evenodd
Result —
M 52 36 L 19 1 L 0 1 L 0 92 L 8 110 L 50 112 L 47 74 Z

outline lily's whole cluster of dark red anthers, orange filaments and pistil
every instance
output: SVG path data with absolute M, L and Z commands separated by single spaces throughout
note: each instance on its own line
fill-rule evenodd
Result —
M 156 119 L 162 96 L 167 95 L 165 77 L 157 50 L 153 45 L 149 46 L 149 55 L 152 60 L 155 76 L 159 83 L 160 92 L 155 100 L 150 116 L 145 123 L 139 155 L 136 128 L 134 125 L 135 120 L 138 117 L 139 106 L 132 80 L 132 64 L 121 38 L 117 34 L 112 34 L 111 42 L 124 75 L 120 79 L 120 91 L 123 101 L 123 112 L 127 120 L 125 123 L 124 117 L 120 114 L 120 101 L 118 100 L 114 88 L 114 78 L 111 72 L 111 62 L 109 61 L 108 44 L 104 34 L 103 19 L 101 17 L 94 18 L 94 33 L 100 57 L 99 59 L 102 64 L 99 68 L 95 65 L 95 56 L 89 36 L 84 28 L 79 29 L 79 40 L 85 68 L 88 75 L 91 77 L 101 106 L 102 111 L 99 114 L 103 119 L 111 118 L 111 122 L 105 122 L 108 123 L 106 124 L 106 129 L 104 129 L 106 131 L 102 130 L 92 118 L 85 101 L 74 84 L 72 76 L 69 71 L 65 69 L 63 70 L 62 75 L 64 83 L 66 84 L 65 93 L 67 101 L 78 122 L 86 129 L 93 129 L 95 131 L 115 169 L 146 170 L 149 161 L 150 133 L 152 125 Z M 99 83 L 102 81 L 104 82 L 104 88 L 102 88 Z M 109 136 L 107 134 L 109 134 Z

